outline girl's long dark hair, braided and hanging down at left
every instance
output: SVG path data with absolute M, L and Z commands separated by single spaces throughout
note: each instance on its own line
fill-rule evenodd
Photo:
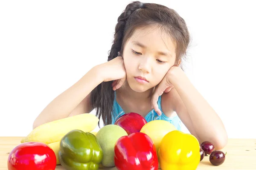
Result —
M 125 43 L 136 28 L 156 25 L 165 33 L 168 33 L 175 42 L 176 61 L 186 56 L 186 49 L 190 42 L 189 31 L 182 17 L 173 9 L 156 3 L 142 3 L 134 1 L 118 17 L 115 27 L 114 40 L 111 50 L 108 52 L 108 61 L 114 59 L 122 52 Z M 182 64 L 180 65 L 182 68 Z M 104 125 L 112 122 L 114 91 L 112 81 L 102 82 L 90 94 L 90 103 L 96 108 L 96 116 L 102 117 Z

